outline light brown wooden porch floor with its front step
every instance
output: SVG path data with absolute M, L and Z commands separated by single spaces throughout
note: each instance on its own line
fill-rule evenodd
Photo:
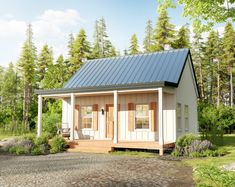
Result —
M 69 152 L 94 152 L 94 153 L 108 153 L 115 148 L 122 149 L 147 149 L 147 150 L 161 150 L 162 147 L 158 142 L 150 141 L 119 141 L 114 144 L 112 140 L 74 140 L 69 141 Z M 164 149 L 174 147 L 174 142 L 166 142 Z

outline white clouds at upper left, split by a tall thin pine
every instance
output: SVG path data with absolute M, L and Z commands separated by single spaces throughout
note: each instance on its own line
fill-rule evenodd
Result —
M 47 43 L 53 47 L 55 59 L 60 54 L 66 55 L 69 31 L 81 23 L 84 23 L 84 19 L 76 10 L 45 10 L 31 21 L 38 51 Z M 0 65 L 7 66 L 10 61 L 17 61 L 19 58 L 27 24 L 26 21 L 16 20 L 12 15 L 2 15 L 0 18 Z

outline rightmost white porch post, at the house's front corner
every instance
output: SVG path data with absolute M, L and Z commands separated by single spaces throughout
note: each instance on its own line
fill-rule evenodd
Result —
M 163 91 L 162 88 L 158 90 L 158 142 L 160 145 L 160 155 L 163 155 L 164 133 L 163 133 Z

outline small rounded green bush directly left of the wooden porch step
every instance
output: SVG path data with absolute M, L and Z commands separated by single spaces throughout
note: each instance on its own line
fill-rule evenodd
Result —
M 58 135 L 52 138 L 50 153 L 58 153 L 65 151 L 65 148 L 66 148 L 66 141 L 64 140 L 64 138 Z

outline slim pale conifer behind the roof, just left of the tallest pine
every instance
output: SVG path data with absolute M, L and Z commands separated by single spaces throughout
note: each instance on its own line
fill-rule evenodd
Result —
M 145 28 L 145 38 L 143 42 L 145 52 L 151 52 L 153 48 L 153 26 L 152 21 L 148 20 Z

